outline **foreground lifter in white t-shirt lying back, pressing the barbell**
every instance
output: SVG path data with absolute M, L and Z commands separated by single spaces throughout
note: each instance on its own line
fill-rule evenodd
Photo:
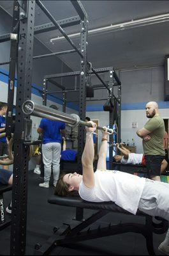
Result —
M 169 184 L 141 178 L 126 172 L 106 170 L 107 128 L 102 132 L 97 170 L 93 170 L 94 145 L 92 134 L 96 124 L 86 127 L 86 141 L 82 154 L 82 175 L 61 175 L 55 187 L 55 195 L 66 196 L 73 191 L 89 202 L 115 202 L 122 209 L 136 214 L 139 209 L 145 214 L 159 216 L 169 221 Z M 169 229 L 159 250 L 169 255 Z

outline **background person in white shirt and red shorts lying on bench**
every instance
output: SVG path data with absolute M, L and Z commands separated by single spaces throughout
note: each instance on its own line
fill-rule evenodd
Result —
M 142 164 L 145 165 L 145 157 L 144 154 L 136 154 L 131 153 L 128 148 L 123 147 L 122 143 L 116 143 L 116 147 L 119 151 L 123 154 L 116 155 L 113 157 L 115 162 L 122 163 L 122 164 Z M 168 163 L 165 159 L 163 159 L 161 163 L 161 173 L 163 173 L 166 170 L 166 167 L 168 166 Z

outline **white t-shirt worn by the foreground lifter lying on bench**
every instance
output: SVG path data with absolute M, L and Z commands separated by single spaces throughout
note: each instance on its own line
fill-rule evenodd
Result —
M 115 202 L 126 211 L 136 214 L 145 178 L 113 170 L 97 170 L 94 188 L 87 188 L 82 180 L 78 193 L 89 202 Z

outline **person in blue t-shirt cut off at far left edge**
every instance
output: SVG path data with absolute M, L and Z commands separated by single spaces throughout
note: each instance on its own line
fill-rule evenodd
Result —
M 4 102 L 0 102 L 0 134 L 5 132 L 6 120 L 5 115 L 8 105 Z M 0 156 L 8 155 L 8 145 L 6 143 L 6 137 L 0 138 Z M 3 168 L 8 168 L 8 166 L 3 166 Z

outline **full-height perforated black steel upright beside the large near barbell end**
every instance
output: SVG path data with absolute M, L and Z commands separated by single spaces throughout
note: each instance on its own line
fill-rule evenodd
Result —
M 24 255 L 26 250 L 27 221 L 27 172 L 29 147 L 24 145 L 26 120 L 22 104 L 31 99 L 33 67 L 34 10 L 35 1 L 19 1 L 20 25 L 18 46 L 17 104 L 14 134 L 13 190 L 11 214 L 10 254 Z

